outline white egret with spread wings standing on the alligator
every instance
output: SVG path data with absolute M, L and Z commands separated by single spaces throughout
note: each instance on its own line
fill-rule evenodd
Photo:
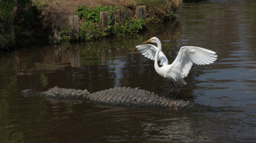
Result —
M 158 47 L 145 44 L 149 42 L 156 43 Z M 177 58 L 173 61 L 173 63 L 171 63 L 171 65 L 169 65 L 166 56 L 162 52 L 162 45 L 158 38 L 153 37 L 142 44 L 143 45 L 137 45 L 136 48 L 145 57 L 149 58 L 150 60 L 154 60 L 154 69 L 156 69 L 156 72 L 158 72 L 160 76 L 171 80 L 173 85 L 173 89 L 171 89 L 171 91 L 176 88 L 173 82 L 177 83 L 178 92 L 180 91 L 180 87 L 178 85 L 179 83 L 186 85 L 183 78 L 188 76 L 193 63 L 197 65 L 208 65 L 216 61 L 218 57 L 216 52 L 212 50 L 201 47 L 184 46 L 180 48 Z M 162 67 L 158 66 L 158 61 L 160 61 L 160 65 L 163 65 Z M 171 93 L 171 91 L 168 93 Z M 177 94 L 175 95 L 175 98 Z

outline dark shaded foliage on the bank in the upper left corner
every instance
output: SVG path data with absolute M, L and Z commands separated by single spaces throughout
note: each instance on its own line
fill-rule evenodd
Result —
M 40 3 L 32 0 L 0 0 L 0 51 L 16 44 L 24 45 L 34 41 L 32 34 L 38 27 Z M 40 32 L 37 32 L 40 34 Z

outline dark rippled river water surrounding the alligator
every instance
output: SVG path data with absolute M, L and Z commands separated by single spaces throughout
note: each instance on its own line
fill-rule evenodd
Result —
M 163 95 L 171 82 L 135 49 L 153 36 L 162 41 L 170 63 L 184 45 L 218 54 L 211 65 L 193 65 L 178 98 L 223 112 L 130 109 L 19 94 L 23 89 L 46 91 L 54 86 L 91 93 L 125 86 Z M 0 61 L 0 142 L 256 141 L 253 0 L 184 3 L 176 21 L 137 36 L 34 46 L 1 54 Z

